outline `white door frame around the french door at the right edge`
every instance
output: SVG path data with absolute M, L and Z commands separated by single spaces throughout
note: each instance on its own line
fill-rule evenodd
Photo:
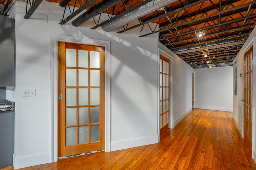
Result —
M 246 45 L 246 47 L 243 50 L 243 63 L 244 63 L 244 54 L 252 47 L 252 57 L 254 61 L 256 60 L 256 37 L 254 36 L 252 40 Z M 243 70 L 244 70 L 244 64 L 243 64 Z M 244 78 L 244 76 L 243 76 Z M 244 87 L 244 80 L 242 80 L 242 84 Z M 256 84 L 256 62 L 252 63 L 252 86 Z M 252 88 L 252 96 L 256 96 L 256 88 Z M 244 98 L 244 92 L 242 92 L 242 98 Z M 244 106 L 243 106 L 244 109 Z M 256 99 L 252 99 L 252 115 L 255 115 L 256 113 Z M 242 113 L 242 118 L 244 118 L 244 112 Z M 252 158 L 256 161 L 256 116 L 252 117 Z M 244 137 L 244 120 L 242 121 L 242 137 Z

